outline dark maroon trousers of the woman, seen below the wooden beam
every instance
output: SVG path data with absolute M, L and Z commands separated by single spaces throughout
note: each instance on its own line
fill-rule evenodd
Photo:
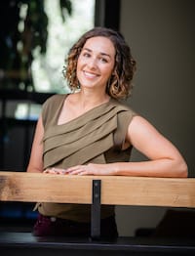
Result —
M 80 223 L 39 214 L 33 227 L 36 236 L 90 236 L 91 223 Z M 101 219 L 100 236 L 116 238 L 118 236 L 115 217 Z

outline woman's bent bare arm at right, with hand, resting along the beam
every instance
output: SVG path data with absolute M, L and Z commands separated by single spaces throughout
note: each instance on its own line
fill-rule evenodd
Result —
M 127 175 L 146 177 L 187 177 L 187 165 L 176 147 L 147 120 L 136 116 L 129 125 L 127 142 L 149 160 L 88 164 L 68 168 L 68 174 Z

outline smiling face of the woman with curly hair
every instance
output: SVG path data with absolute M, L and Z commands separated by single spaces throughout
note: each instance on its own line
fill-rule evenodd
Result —
M 77 63 L 77 77 L 81 87 L 103 88 L 112 74 L 115 64 L 115 48 L 106 37 L 88 39 Z

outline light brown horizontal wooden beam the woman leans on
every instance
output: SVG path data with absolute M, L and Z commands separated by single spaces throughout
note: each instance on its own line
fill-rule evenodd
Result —
M 92 203 L 92 181 L 101 180 L 101 203 L 195 207 L 195 178 L 70 176 L 0 171 L 0 200 Z

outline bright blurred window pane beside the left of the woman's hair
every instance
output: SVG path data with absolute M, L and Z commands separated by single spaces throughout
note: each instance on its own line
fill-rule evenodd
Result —
M 45 0 L 48 16 L 48 41 L 45 56 L 39 49 L 34 51 L 32 79 L 37 92 L 67 92 L 62 77 L 62 67 L 69 48 L 82 33 L 94 26 L 95 0 L 71 0 L 72 14 L 60 15 L 59 1 Z

